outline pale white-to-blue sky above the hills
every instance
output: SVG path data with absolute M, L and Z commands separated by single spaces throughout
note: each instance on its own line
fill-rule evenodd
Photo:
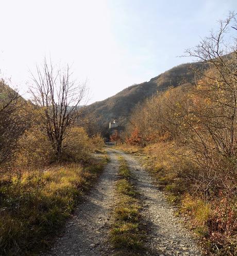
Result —
M 43 59 L 69 63 L 89 102 L 181 63 L 236 0 L 0 0 L 0 77 L 29 98 Z

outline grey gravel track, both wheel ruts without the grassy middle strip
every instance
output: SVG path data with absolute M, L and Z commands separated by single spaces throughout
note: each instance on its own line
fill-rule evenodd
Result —
M 67 222 L 64 233 L 54 246 L 42 256 L 104 256 L 113 249 L 108 244 L 111 207 L 115 200 L 115 181 L 123 156 L 134 177 L 133 182 L 141 194 L 142 216 L 147 229 L 146 255 L 200 256 L 193 234 L 185 229 L 181 219 L 174 216 L 174 207 L 164 193 L 154 185 L 149 174 L 137 159 L 121 151 L 108 148 L 110 162 L 100 175 L 95 187 L 83 197 L 73 217 Z

